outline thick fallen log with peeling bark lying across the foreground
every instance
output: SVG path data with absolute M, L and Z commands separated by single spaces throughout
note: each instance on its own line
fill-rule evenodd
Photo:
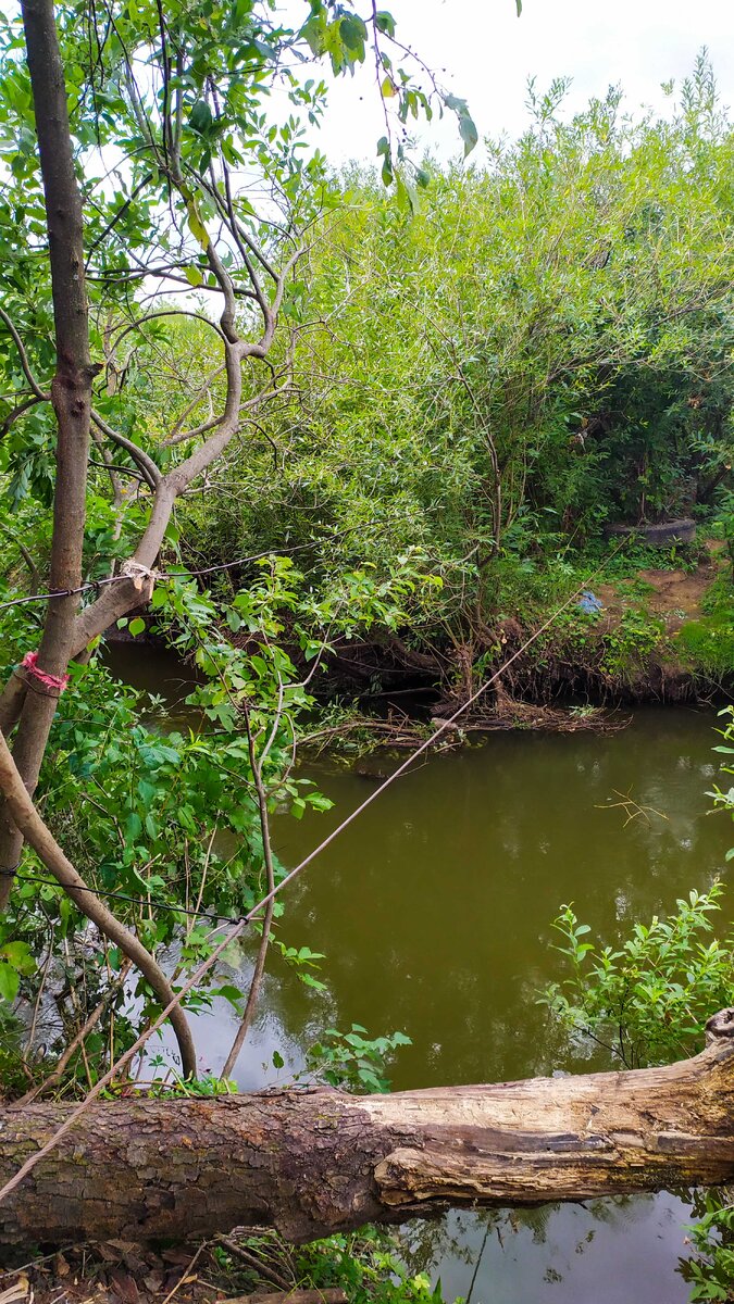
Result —
M 0 1110 L 7 1181 L 68 1104 Z M 447 1206 L 734 1179 L 734 1009 L 665 1068 L 393 1095 L 324 1088 L 94 1102 L 0 1206 L 1 1253 L 274 1226 L 293 1241 Z

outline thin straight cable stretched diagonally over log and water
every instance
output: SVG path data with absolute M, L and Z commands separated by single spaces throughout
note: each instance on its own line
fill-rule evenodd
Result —
M 624 546 L 624 542 L 627 542 L 627 540 L 622 540 L 620 544 L 618 544 L 618 546 L 610 554 L 607 561 L 611 561 L 611 558 L 619 552 L 619 549 Z M 602 569 L 603 563 L 597 566 L 597 569 L 584 580 L 584 583 L 579 584 L 579 587 L 569 595 L 569 597 L 567 597 L 566 601 L 562 602 L 560 606 L 555 609 L 552 615 L 550 615 L 549 619 L 545 621 L 539 626 L 539 629 L 537 629 L 535 632 L 532 634 L 530 638 L 525 640 L 525 643 L 517 649 L 517 652 L 513 652 L 513 655 L 507 659 L 507 661 L 499 668 L 499 670 L 496 670 L 490 679 L 482 683 L 479 689 L 477 689 L 477 691 L 473 692 L 471 696 L 469 696 L 466 702 L 464 702 L 458 707 L 457 711 L 455 711 L 453 716 L 451 716 L 448 720 L 444 720 L 443 724 L 431 734 L 431 737 L 427 738 L 423 743 L 421 743 L 421 746 L 417 747 L 415 751 L 410 754 L 410 756 L 407 756 L 407 759 L 402 763 L 402 765 L 400 765 L 383 784 L 380 784 L 380 786 L 376 788 L 375 792 L 371 793 L 371 795 L 367 797 L 366 801 L 363 801 L 354 811 L 351 811 L 351 814 L 347 815 L 346 819 L 343 819 L 341 824 L 336 829 L 333 829 L 333 832 L 329 833 L 329 836 L 325 837 L 324 841 L 319 844 L 319 846 L 313 849 L 313 852 L 311 852 L 303 861 L 300 861 L 300 863 L 296 865 L 295 868 L 290 871 L 290 874 L 286 874 L 286 876 L 281 879 L 281 882 L 277 883 L 276 887 L 270 892 L 268 892 L 266 896 L 264 896 L 263 900 L 259 901 L 257 905 L 255 905 L 252 910 L 249 910 L 248 914 L 244 915 L 243 919 L 235 923 L 234 927 L 226 930 L 225 936 L 217 944 L 212 955 L 202 961 L 199 969 L 191 975 L 191 978 L 187 979 L 183 987 L 179 988 L 172 1000 L 170 1000 L 166 1008 L 161 1011 L 154 1022 L 149 1028 L 146 1028 L 145 1031 L 140 1034 L 140 1037 L 137 1038 L 136 1042 L 133 1042 L 129 1050 L 127 1050 L 124 1055 L 121 1055 L 120 1059 L 115 1064 L 112 1064 L 112 1067 L 107 1071 L 107 1073 L 99 1078 L 99 1081 L 93 1086 L 93 1089 L 88 1093 L 84 1101 L 81 1101 L 77 1108 L 73 1110 L 72 1114 L 69 1114 L 65 1123 L 63 1123 L 61 1127 L 54 1133 L 54 1136 L 50 1137 L 46 1145 L 43 1145 L 39 1150 L 31 1154 L 21 1166 L 21 1168 L 18 1168 L 18 1171 L 5 1183 L 5 1185 L 0 1189 L 0 1204 L 3 1202 L 5 1196 L 8 1196 L 12 1191 L 16 1189 L 16 1187 L 20 1185 L 24 1178 L 26 1178 L 35 1168 L 37 1164 L 46 1158 L 47 1154 L 51 1154 L 51 1151 L 55 1150 L 61 1137 L 64 1137 L 67 1132 L 69 1132 L 73 1128 L 74 1123 L 84 1114 L 88 1106 L 91 1104 L 91 1102 L 97 1099 L 97 1097 L 104 1090 L 104 1088 L 110 1085 L 110 1082 L 116 1077 L 120 1069 L 123 1069 L 127 1064 L 131 1063 L 133 1056 L 137 1055 L 137 1052 L 145 1046 L 146 1041 L 153 1035 L 153 1033 L 158 1031 L 158 1029 L 163 1025 L 168 1015 L 175 1009 L 175 1007 L 180 1004 L 183 998 L 187 996 L 193 987 L 196 987 L 196 985 L 204 978 L 204 975 L 209 971 L 209 969 L 212 969 L 212 966 L 217 962 L 222 952 L 226 951 L 226 948 L 232 941 L 235 941 L 236 938 L 240 936 L 244 928 L 252 922 L 252 919 L 255 919 L 255 917 L 263 910 L 263 908 L 266 906 L 269 901 L 273 901 L 274 897 L 278 896 L 283 891 L 283 888 L 287 887 L 289 883 L 293 883 L 296 875 L 299 875 L 306 868 L 307 865 L 311 865 L 311 862 L 323 850 L 325 850 L 325 848 L 329 846 L 334 841 L 334 838 L 337 838 L 340 833 L 343 832 L 345 828 L 349 828 L 349 825 L 353 824 L 354 820 L 359 815 L 362 815 L 362 812 L 366 811 L 367 807 L 371 806 L 372 802 L 375 802 L 377 797 L 380 797 L 381 793 L 384 793 L 385 789 L 391 786 L 391 784 L 396 781 L 396 778 L 404 775 L 406 769 L 410 768 L 413 762 L 417 760 L 418 756 L 422 756 L 423 752 L 427 751 L 427 748 L 436 741 L 436 738 L 439 738 L 447 729 L 449 729 L 452 724 L 456 724 L 458 717 L 464 715 L 464 712 L 468 711 L 469 707 L 473 705 L 474 702 L 477 702 L 487 691 L 487 689 L 490 689 L 491 685 L 498 681 L 498 678 L 502 674 L 504 674 L 504 672 L 512 665 L 512 662 L 516 661 L 517 657 L 521 656 L 522 652 L 525 652 L 541 636 L 541 634 L 543 634 L 554 623 L 554 621 L 558 619 L 562 612 L 564 612 L 566 608 L 571 605 L 573 599 L 577 597 L 579 593 L 581 593 L 582 589 L 590 584 L 590 582 L 594 579 L 596 575 L 599 574 Z M 222 926 L 219 925 L 214 930 L 214 932 L 218 932 L 219 927 Z

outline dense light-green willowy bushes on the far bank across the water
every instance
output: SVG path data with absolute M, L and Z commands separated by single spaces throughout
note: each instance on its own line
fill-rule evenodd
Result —
M 417 546 L 443 588 L 414 593 L 411 632 L 435 647 L 563 597 L 610 520 L 705 516 L 733 406 L 733 137 L 712 94 L 705 60 L 671 120 L 622 116 L 618 93 L 567 119 L 562 83 L 534 90 L 528 132 L 483 168 L 432 167 L 411 216 L 343 176 L 294 286 L 296 396 L 248 445 L 239 499 L 187 507 L 184 548 L 287 539 L 328 592 Z M 631 541 L 620 574 L 635 559 L 690 565 Z M 610 672 L 654 635 L 630 617 Z

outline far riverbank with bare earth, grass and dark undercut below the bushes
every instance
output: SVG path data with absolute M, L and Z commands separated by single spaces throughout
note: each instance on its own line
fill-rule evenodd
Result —
M 652 549 L 643 559 L 658 565 L 626 565 L 614 576 L 602 570 L 601 582 L 581 592 L 575 574 L 566 576 L 566 591 L 558 579 L 541 584 L 535 576 L 498 593 L 481 627 L 461 636 L 376 629 L 336 639 L 311 686 L 323 719 L 306 742 L 319 750 L 405 748 L 461 711 L 438 741 L 451 748 L 487 730 L 607 732 L 643 704 L 726 704 L 734 692 L 734 593 L 721 545 L 690 549 L 679 565 L 661 565 Z M 168 653 L 154 630 L 137 638 L 108 631 L 110 664 L 136 686 L 163 687 L 180 702 L 196 670 Z M 222 635 L 259 651 L 257 634 L 225 627 Z M 298 665 L 287 630 L 285 642 Z

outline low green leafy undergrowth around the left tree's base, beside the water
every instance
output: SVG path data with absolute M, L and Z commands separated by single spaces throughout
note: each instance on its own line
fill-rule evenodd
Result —
M 313 712 L 310 682 L 330 639 L 350 639 L 375 622 L 388 629 L 402 623 L 405 601 L 431 583 L 419 558 L 404 558 L 394 582 L 364 567 L 345 572 L 328 597 L 317 599 L 290 558 L 269 557 L 253 563 L 248 587 L 219 602 L 182 567 L 171 567 L 153 595 L 149 623 L 197 668 L 185 730 L 172 726 L 161 700 L 118 683 L 99 656 L 72 666 L 42 773 L 44 816 L 85 882 L 103 897 L 114 893 L 108 900 L 116 915 L 153 953 L 176 947 L 178 978 L 218 940 L 206 911 L 236 919 L 266 891 L 252 758 L 270 812 L 299 819 L 307 808 L 328 808 L 328 799 L 294 772 L 296 742 Z M 8 651 L 16 644 L 20 652 L 35 638 L 30 612 L 0 612 Z M 279 882 L 285 871 L 277 857 L 274 872 Z M 43 953 L 50 935 L 71 947 L 68 978 L 90 1008 L 120 969 L 115 948 L 102 957 L 89 953 L 84 918 L 54 882 L 38 882 L 48 878 L 26 850 L 10 910 L 0 919 L 0 1011 L 18 996 L 35 999 L 42 974 L 34 956 Z M 276 921 L 281 913 L 277 902 Z M 320 953 L 277 935 L 274 945 L 300 982 L 323 990 L 315 975 Z M 142 979 L 133 994 L 140 998 L 135 1018 L 123 991 L 106 1016 L 114 1018 L 118 1050 L 157 1013 Z M 187 1005 L 200 1008 L 213 995 L 235 1008 L 243 996 L 210 975 Z M 67 1034 L 59 1025 L 50 1054 L 63 1048 Z M 364 1089 L 379 1055 L 391 1048 L 389 1041 L 366 1042 L 358 1055 L 345 1043 L 342 1060 L 332 1047 L 332 1071 L 341 1065 L 354 1081 L 362 1073 Z M 103 1071 L 110 1042 L 95 1037 L 86 1051 L 86 1063 L 72 1061 L 72 1086 L 86 1081 L 88 1071 L 93 1077 Z

